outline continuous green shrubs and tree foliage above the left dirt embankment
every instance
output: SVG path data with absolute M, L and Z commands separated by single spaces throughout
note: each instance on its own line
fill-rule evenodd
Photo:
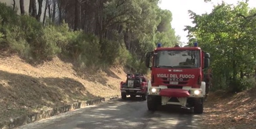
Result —
M 73 25 L 66 23 L 56 26 L 47 17 L 43 26 L 31 16 L 17 16 L 17 10 L 0 3 L 0 42 L 5 41 L 12 52 L 30 60 L 50 60 L 56 55 L 65 55 L 72 56 L 81 67 L 126 65 L 146 74 L 146 53 L 152 51 L 157 42 L 164 46 L 178 42 L 171 27 L 172 14 L 161 10 L 158 2 L 107 1 L 99 15 L 101 25 L 97 23 L 94 24 L 97 27 L 92 27 L 100 28 L 95 35 L 72 31 L 69 27 Z M 93 22 L 96 21 L 89 21 Z

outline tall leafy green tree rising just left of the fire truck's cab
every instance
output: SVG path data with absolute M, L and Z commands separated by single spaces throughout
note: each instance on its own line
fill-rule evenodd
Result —
M 161 10 L 157 6 L 158 2 L 159 0 L 111 0 L 104 4 L 103 16 L 106 23 L 103 23 L 103 28 L 122 25 L 124 34 L 130 37 L 129 40 L 124 39 L 124 46 L 132 54 L 128 65 L 135 71 L 147 73 L 147 68 L 144 67 L 145 55 L 158 42 L 166 47 L 178 42 L 171 27 L 172 14 L 168 10 Z M 118 41 L 121 42 L 120 39 Z

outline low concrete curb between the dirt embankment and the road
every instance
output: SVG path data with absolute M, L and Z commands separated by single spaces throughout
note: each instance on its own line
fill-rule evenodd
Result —
M 13 129 L 14 127 L 18 126 L 23 126 L 28 123 L 34 123 L 36 121 L 39 121 L 41 119 L 46 119 L 51 116 L 55 116 L 61 113 L 65 113 L 71 110 L 79 109 L 85 106 L 89 105 L 97 105 L 99 103 L 105 102 L 107 100 L 113 100 L 120 98 L 120 96 L 113 96 L 113 97 L 103 97 L 103 98 L 98 98 L 94 100 L 86 100 L 86 101 L 81 101 L 81 102 L 76 102 L 73 104 L 68 104 L 65 106 L 60 106 L 56 107 L 51 110 L 43 110 L 40 113 L 33 113 L 33 114 L 28 114 L 24 116 L 18 116 L 14 119 L 7 120 L 5 122 L 0 123 L 0 129 Z

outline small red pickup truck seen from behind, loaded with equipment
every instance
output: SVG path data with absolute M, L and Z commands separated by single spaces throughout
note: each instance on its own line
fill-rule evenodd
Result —
M 120 83 L 122 99 L 126 99 L 127 95 L 130 95 L 130 97 L 136 97 L 138 95 L 142 100 L 147 100 L 147 77 L 140 74 L 127 74 L 126 77 L 126 81 Z

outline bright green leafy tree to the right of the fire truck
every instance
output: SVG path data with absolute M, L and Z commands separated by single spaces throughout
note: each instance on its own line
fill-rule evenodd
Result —
M 255 9 L 249 9 L 244 2 L 237 6 L 223 2 L 210 14 L 189 13 L 195 23 L 195 27 L 186 26 L 190 43 L 199 42 L 211 54 L 215 87 L 234 92 L 251 87 L 244 76 L 255 74 L 256 19 L 251 17 Z

